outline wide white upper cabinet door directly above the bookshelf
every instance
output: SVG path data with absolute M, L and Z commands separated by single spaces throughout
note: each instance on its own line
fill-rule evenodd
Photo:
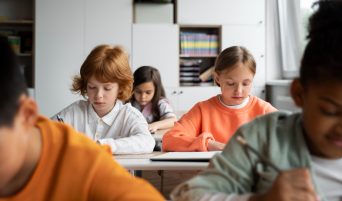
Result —
M 180 0 L 179 24 L 258 24 L 265 19 L 265 0 Z

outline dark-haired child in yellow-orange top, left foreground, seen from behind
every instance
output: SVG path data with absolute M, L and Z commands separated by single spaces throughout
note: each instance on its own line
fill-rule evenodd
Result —
M 164 200 L 70 126 L 38 114 L 0 36 L 0 201 Z

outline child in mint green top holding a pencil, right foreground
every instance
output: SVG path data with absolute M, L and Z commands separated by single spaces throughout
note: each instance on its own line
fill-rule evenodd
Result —
M 242 126 L 207 171 L 173 191 L 173 200 L 342 200 L 342 1 L 316 4 L 291 86 L 302 113 L 271 113 Z

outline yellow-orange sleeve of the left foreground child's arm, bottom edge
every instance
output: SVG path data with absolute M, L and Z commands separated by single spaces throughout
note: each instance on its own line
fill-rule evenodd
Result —
M 111 155 L 97 158 L 96 163 L 89 200 L 165 200 L 148 182 L 113 162 Z

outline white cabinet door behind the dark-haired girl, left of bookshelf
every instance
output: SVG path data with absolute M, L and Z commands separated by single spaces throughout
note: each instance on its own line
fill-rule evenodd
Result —
M 153 66 L 159 69 L 164 87 L 178 87 L 178 33 L 178 25 L 133 24 L 133 70 Z

